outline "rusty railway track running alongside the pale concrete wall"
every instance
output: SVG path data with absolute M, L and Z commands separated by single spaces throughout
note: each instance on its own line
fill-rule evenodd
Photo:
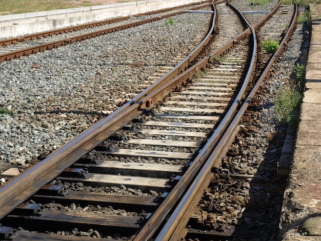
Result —
M 175 7 L 10 39 L 2 39 L 0 40 L 0 62 L 84 41 L 88 38 L 101 36 L 115 31 L 152 23 L 154 21 L 159 21 L 160 19 L 167 19 L 177 14 L 183 14 L 184 10 L 194 11 L 206 8 L 210 6 L 209 1 L 207 2 L 208 3 L 201 2 L 196 6 L 195 4 L 189 4 L 181 7 L 182 10 L 180 11 L 177 11 L 177 7 Z M 164 12 L 167 12 L 167 14 L 164 14 Z

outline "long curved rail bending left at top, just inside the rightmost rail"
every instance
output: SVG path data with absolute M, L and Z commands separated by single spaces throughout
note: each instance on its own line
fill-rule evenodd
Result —
M 235 8 L 233 10 L 237 12 L 237 10 Z M 196 156 L 196 158 L 194 159 L 193 163 L 189 166 L 188 170 L 186 171 L 186 174 L 183 176 L 182 179 L 179 180 L 177 185 L 173 188 L 173 191 L 169 194 L 169 196 L 166 198 L 166 200 L 164 200 L 162 205 L 160 205 L 160 207 L 156 210 L 157 215 L 154 214 L 148 220 L 147 224 L 142 229 L 143 231 L 139 232 L 134 240 L 147 240 L 151 237 L 152 234 L 154 234 L 154 232 L 156 231 L 155 229 L 158 228 L 158 227 L 154 227 L 154 225 L 152 225 L 152 224 L 156 223 L 156 220 L 154 220 L 154 219 L 156 219 L 158 216 L 159 217 L 165 216 L 165 214 L 167 214 L 170 211 L 168 209 L 170 200 L 172 202 L 174 202 L 175 197 L 177 198 L 177 196 L 179 197 L 180 195 L 182 195 L 183 192 L 185 191 L 185 189 L 188 187 L 188 185 L 193 181 L 193 179 L 197 175 L 199 169 L 206 163 L 209 155 L 211 154 L 215 145 L 218 143 L 219 139 L 224 134 L 226 128 L 228 128 L 229 123 L 232 121 L 232 117 L 235 115 L 237 108 L 239 107 L 241 99 L 244 97 L 247 86 L 252 79 L 252 73 L 255 69 L 257 45 L 256 45 L 256 35 L 255 35 L 254 29 L 250 26 L 250 24 L 247 22 L 247 20 L 245 19 L 245 17 L 242 14 L 240 14 L 239 16 L 242 16 L 243 22 L 245 22 L 246 25 L 249 26 L 250 32 L 251 32 L 251 42 L 252 42 L 251 61 L 250 61 L 249 69 L 247 71 L 245 80 L 242 84 L 242 87 L 240 88 L 237 96 L 235 97 L 231 107 L 229 108 L 229 110 L 226 113 L 225 117 L 223 118 L 222 122 L 220 122 L 220 124 L 214 130 L 213 134 L 209 137 L 209 139 L 208 139 L 206 145 L 203 147 L 203 149 L 199 151 L 199 153 Z M 242 36 L 244 37 L 245 34 L 246 33 L 243 33 Z M 235 43 L 235 41 L 233 43 Z M 214 53 L 213 53 L 213 55 L 217 55 Z M 160 233 L 158 234 L 158 236 L 155 240 L 169 240 L 173 229 L 177 226 L 184 211 L 189 206 L 191 197 L 193 197 L 195 195 L 195 193 L 197 192 L 198 185 L 203 183 L 203 181 L 202 181 L 203 178 L 205 178 L 205 176 L 204 176 L 204 173 L 201 171 L 197 175 L 197 178 L 193 182 L 193 184 L 195 184 L 197 187 L 193 188 L 192 190 L 190 188 L 189 191 L 184 195 L 182 202 L 180 202 L 179 206 L 176 207 L 174 213 L 171 215 L 170 219 L 167 221 L 167 223 L 163 227 L 162 231 L 160 231 Z M 171 197 L 171 196 L 173 196 L 173 197 Z M 172 207 L 172 206 L 173 206 L 173 204 L 171 204 L 170 207 Z M 162 213 L 159 214 L 159 212 L 162 212 Z M 146 230 L 144 230 L 144 229 L 146 229 Z

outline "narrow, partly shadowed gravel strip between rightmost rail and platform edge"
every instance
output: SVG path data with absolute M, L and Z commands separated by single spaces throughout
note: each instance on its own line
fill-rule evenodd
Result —
M 238 2 L 239 3 L 239 2 Z M 283 8 L 285 9 L 285 7 Z M 287 7 L 288 9 L 288 7 Z M 304 11 L 299 9 L 300 13 Z M 280 23 L 265 25 L 259 31 L 259 36 L 276 29 Z M 295 210 L 287 210 L 286 218 L 280 218 L 283 207 L 283 193 L 286 180 L 280 179 L 276 173 L 277 162 L 283 148 L 287 126 L 276 121 L 275 96 L 282 87 L 299 89 L 294 81 L 293 67 L 299 63 L 306 64 L 309 44 L 307 25 L 297 24 L 293 35 L 286 45 L 285 51 L 274 64 L 274 69 L 260 88 L 252 106 L 241 123 L 242 131 L 238 136 L 239 143 L 234 144 L 230 157 L 239 170 L 256 173 L 252 179 L 251 198 L 239 224 L 257 228 L 257 240 L 284 240 L 286 225 L 295 220 Z M 261 59 L 264 60 L 264 54 Z M 246 167 L 246 168 L 245 168 Z

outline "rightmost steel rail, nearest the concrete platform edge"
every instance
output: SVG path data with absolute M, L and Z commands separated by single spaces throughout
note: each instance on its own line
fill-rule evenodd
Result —
M 191 197 L 195 196 L 195 194 L 197 193 L 199 188 L 207 180 L 207 176 L 209 175 L 211 169 L 213 167 L 218 168 L 218 166 L 219 166 L 219 162 L 218 162 L 219 161 L 219 157 L 222 154 L 222 151 L 224 150 L 226 144 L 228 143 L 228 140 L 231 139 L 233 137 L 233 135 L 236 135 L 235 129 L 236 129 L 237 125 L 239 124 L 240 119 L 242 119 L 244 113 L 248 109 L 248 107 L 249 107 L 252 99 L 254 98 L 256 92 L 258 91 L 258 88 L 260 87 L 260 85 L 262 84 L 264 79 L 267 77 L 272 65 L 275 62 L 275 59 L 277 58 L 277 56 L 280 53 L 280 51 L 282 51 L 282 49 L 284 47 L 284 44 L 288 41 L 290 33 L 294 29 L 295 19 L 297 17 L 297 6 L 296 6 L 295 2 L 294 2 L 294 7 L 295 7 L 295 11 L 294 11 L 294 14 L 293 14 L 293 17 L 292 17 L 291 24 L 290 24 L 290 26 L 288 28 L 288 31 L 286 32 L 282 42 L 280 43 L 279 48 L 277 49 L 277 51 L 271 57 L 266 69 L 264 70 L 262 75 L 260 75 L 258 81 L 256 82 L 256 84 L 252 88 L 251 92 L 246 97 L 244 103 L 242 104 L 242 106 L 238 110 L 238 112 L 235 115 L 235 117 L 232 119 L 231 124 L 227 128 L 227 130 L 224 133 L 224 135 L 222 136 L 221 140 L 219 141 L 217 146 L 213 149 L 211 155 L 208 158 L 208 161 L 202 167 L 202 170 L 200 170 L 200 172 L 198 173 L 197 177 L 193 181 L 192 185 L 190 186 L 188 191 L 185 193 L 185 195 L 182 198 L 182 200 L 180 200 L 180 203 L 177 205 L 177 207 L 173 211 L 171 217 L 168 219 L 167 223 L 163 227 L 162 231 L 160 231 L 158 236 L 155 238 L 155 240 L 178 240 L 179 238 L 182 238 L 182 237 L 177 237 L 176 236 L 178 232 L 176 233 L 176 235 L 173 235 L 173 233 L 175 232 L 175 229 L 178 226 L 178 223 L 180 222 L 180 220 L 182 220 L 183 216 L 184 215 L 190 216 L 190 215 L 188 215 L 186 213 L 191 213 L 192 212 L 192 207 L 191 207 L 192 200 L 191 200 Z M 260 23 L 257 24 L 256 26 L 262 24 L 261 22 L 262 21 L 260 21 Z M 187 222 L 188 220 L 185 220 L 185 221 Z

